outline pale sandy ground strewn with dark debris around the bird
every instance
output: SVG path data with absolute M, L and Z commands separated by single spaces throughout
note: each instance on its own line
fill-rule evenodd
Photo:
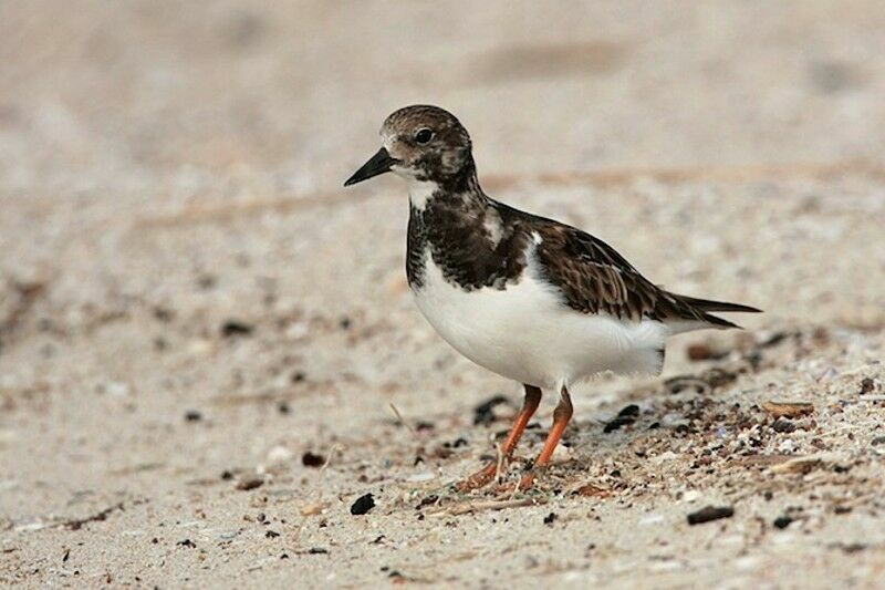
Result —
M 885 587 L 878 2 L 268 4 L 0 6 L 0 582 Z M 498 198 L 767 313 L 452 491 L 518 385 L 412 304 L 404 187 L 341 188 L 417 101 Z

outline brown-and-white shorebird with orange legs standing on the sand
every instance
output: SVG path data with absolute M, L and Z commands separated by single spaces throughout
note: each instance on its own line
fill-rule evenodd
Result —
M 739 328 L 716 312 L 760 311 L 667 291 L 603 240 L 491 198 L 479 184 L 470 135 L 444 108 L 395 111 L 381 127 L 381 143 L 344 186 L 384 173 L 405 179 L 406 278 L 418 309 L 460 354 L 523 386 L 501 446 L 504 460 L 543 390 L 559 393 L 553 425 L 520 489 L 549 466 L 573 414 L 575 383 L 606 371 L 659 374 L 669 337 Z M 499 463 L 458 489 L 496 480 Z

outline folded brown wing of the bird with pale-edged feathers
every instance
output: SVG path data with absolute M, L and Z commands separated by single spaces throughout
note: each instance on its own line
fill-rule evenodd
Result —
M 556 222 L 532 229 L 541 236 L 537 255 L 542 271 L 577 311 L 636 321 L 652 318 L 735 327 L 655 286 L 601 239 Z

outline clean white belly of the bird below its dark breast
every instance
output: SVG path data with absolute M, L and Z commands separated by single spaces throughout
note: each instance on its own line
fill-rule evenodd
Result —
M 464 291 L 427 257 L 414 291 L 421 313 L 458 352 L 507 379 L 560 387 L 603 371 L 657 373 L 669 329 L 654 320 L 622 321 L 564 306 L 530 263 L 504 290 Z

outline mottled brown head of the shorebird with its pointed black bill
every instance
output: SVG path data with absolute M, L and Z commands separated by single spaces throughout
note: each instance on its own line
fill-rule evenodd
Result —
M 438 106 L 414 105 L 395 111 L 384 121 L 381 137 L 383 147 L 344 186 L 385 172 L 446 186 L 473 172 L 467 130 L 455 115 Z

